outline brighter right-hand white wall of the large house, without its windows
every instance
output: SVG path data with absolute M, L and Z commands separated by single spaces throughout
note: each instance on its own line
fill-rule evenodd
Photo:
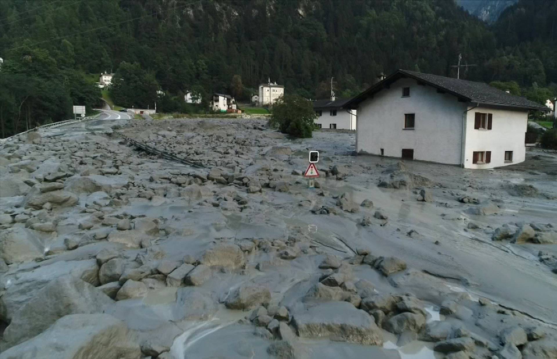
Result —
M 471 108 L 472 106 L 468 107 Z M 491 130 L 474 129 L 476 112 L 492 114 Z M 480 106 L 467 112 L 465 168 L 494 168 L 524 161 L 524 137 L 528 112 Z M 474 151 L 491 151 L 491 163 L 472 164 Z M 505 151 L 512 151 L 512 163 L 505 162 Z

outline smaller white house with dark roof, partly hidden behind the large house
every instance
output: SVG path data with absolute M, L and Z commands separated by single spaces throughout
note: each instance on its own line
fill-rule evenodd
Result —
M 346 109 L 343 106 L 350 99 L 338 99 L 331 96 L 330 100 L 314 101 L 314 110 L 317 114 L 315 124 L 320 129 L 356 129 L 356 110 Z

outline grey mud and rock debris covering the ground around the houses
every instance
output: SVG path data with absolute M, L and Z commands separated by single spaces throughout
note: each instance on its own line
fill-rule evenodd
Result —
M 0 358 L 557 358 L 557 154 L 354 140 L 97 120 L 0 145 Z

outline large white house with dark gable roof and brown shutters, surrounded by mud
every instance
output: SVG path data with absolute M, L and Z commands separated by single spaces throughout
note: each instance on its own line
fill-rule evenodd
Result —
M 345 105 L 356 152 L 486 169 L 525 159 L 529 110 L 547 107 L 481 82 L 398 70 Z

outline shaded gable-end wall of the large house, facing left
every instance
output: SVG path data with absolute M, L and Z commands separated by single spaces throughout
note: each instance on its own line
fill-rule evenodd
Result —
M 409 97 L 402 97 L 403 87 L 410 87 Z M 379 155 L 384 149 L 385 156 L 400 157 L 402 149 L 413 149 L 416 160 L 460 164 L 466 106 L 455 96 L 401 78 L 359 105 L 356 151 Z M 413 130 L 404 129 L 404 114 L 415 114 Z

